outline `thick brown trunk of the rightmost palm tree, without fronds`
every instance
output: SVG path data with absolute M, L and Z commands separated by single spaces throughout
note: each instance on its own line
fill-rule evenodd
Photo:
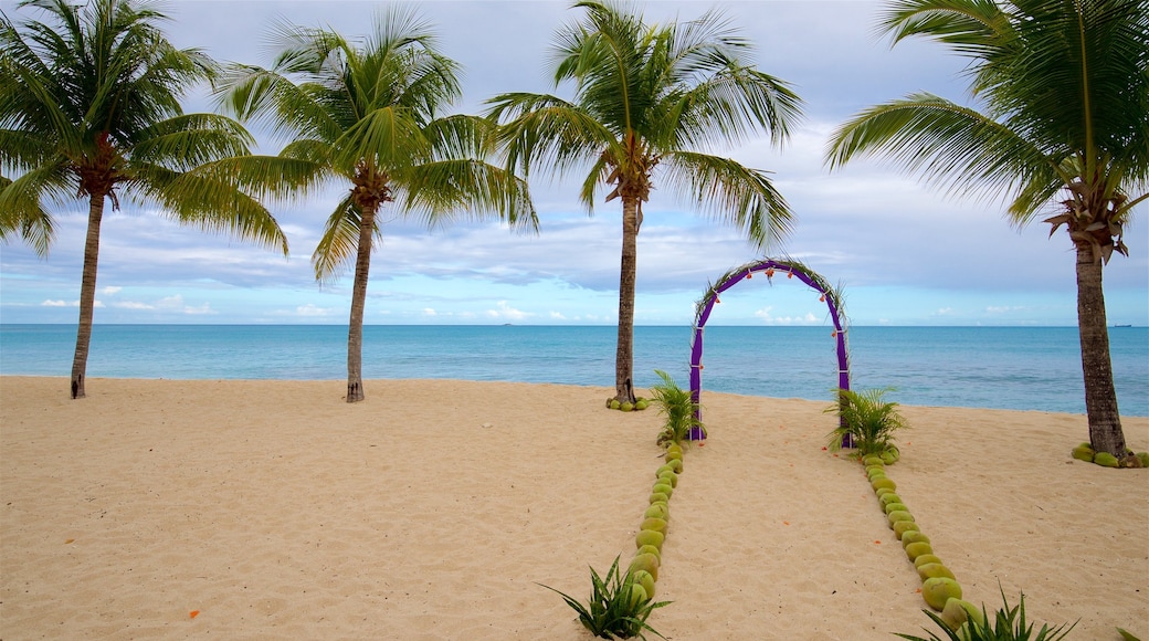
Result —
M 1085 409 L 1089 419 L 1089 442 L 1095 451 L 1125 456 L 1125 433 L 1117 409 L 1113 365 L 1109 357 L 1109 326 L 1105 294 L 1101 285 L 1101 261 L 1093 248 L 1077 252 L 1078 330 L 1081 334 L 1081 368 L 1085 373 Z

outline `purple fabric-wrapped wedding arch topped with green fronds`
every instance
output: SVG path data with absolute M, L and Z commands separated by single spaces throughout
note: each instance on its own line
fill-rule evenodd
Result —
M 846 348 L 845 316 L 842 314 L 842 300 L 840 293 L 834 289 L 826 279 L 813 270 L 807 268 L 797 261 L 764 258 L 726 272 L 717 283 L 711 285 L 702 300 L 699 301 L 694 316 L 694 332 L 691 338 L 691 399 L 695 403 L 695 417 L 701 420 L 701 409 L 697 403 L 702 397 L 702 337 L 707 320 L 714 307 L 722 301 L 719 295 L 730 289 L 743 279 L 750 279 L 754 275 L 765 275 L 772 281 L 776 275 L 785 273 L 787 279 L 797 278 L 811 289 L 818 292 L 819 298 L 826 303 L 830 310 L 830 318 L 834 323 L 833 338 L 838 341 L 838 387 L 840 389 L 850 388 L 850 365 L 849 353 Z M 691 431 L 691 440 L 701 440 L 703 431 L 694 427 Z M 843 447 L 851 447 L 853 442 L 845 442 Z

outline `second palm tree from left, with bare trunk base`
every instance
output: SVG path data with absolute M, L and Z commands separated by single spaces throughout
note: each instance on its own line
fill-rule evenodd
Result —
M 278 159 L 308 184 L 350 190 L 327 218 L 311 257 L 319 283 L 354 260 L 347 335 L 347 402 L 363 400 L 363 310 L 379 209 L 395 202 L 429 225 L 496 214 L 537 229 L 526 183 L 484 159 L 495 128 L 476 116 L 440 116 L 460 95 L 458 65 L 435 51 L 429 26 L 392 8 L 355 45 L 323 29 L 284 25 L 271 69 L 236 65 L 224 106 L 259 118 L 290 142 Z M 295 80 L 299 80 L 296 84 Z

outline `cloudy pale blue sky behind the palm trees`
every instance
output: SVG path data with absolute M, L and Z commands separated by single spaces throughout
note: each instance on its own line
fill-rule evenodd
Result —
M 276 20 L 367 33 L 376 2 L 188 1 L 165 5 L 169 38 L 219 61 L 270 65 L 267 36 Z M 649 22 L 691 20 L 719 7 L 754 44 L 759 70 L 793 85 L 804 118 L 782 147 L 763 136 L 712 149 L 756 169 L 789 202 L 795 225 L 765 252 L 734 229 L 696 216 L 671 192 L 645 206 L 638 246 L 639 325 L 689 325 L 694 303 L 733 267 L 763 257 L 802 261 L 840 287 L 854 325 L 1075 325 L 1074 253 L 1067 235 L 1040 222 L 1024 229 L 1002 215 L 998 196 L 958 199 L 932 191 L 880 161 L 828 171 L 830 133 L 857 111 L 912 92 L 969 102 L 964 61 L 940 45 L 892 47 L 874 31 L 879 2 L 746 1 L 637 5 Z M 16 2 L 0 8 L 33 17 Z M 569 95 L 547 76 L 555 31 L 580 11 L 569 2 L 426 1 L 441 51 L 464 68 L 455 110 L 479 114 L 502 92 Z M 211 110 L 207 92 L 187 111 Z M 261 153 L 276 153 L 252 130 Z M 496 222 L 427 230 L 380 211 L 384 242 L 371 262 L 367 324 L 617 323 L 622 211 L 618 201 L 577 200 L 580 176 L 532 175 L 538 234 Z M 304 199 L 268 203 L 291 256 L 178 226 L 162 213 L 124 203 L 101 227 L 95 323 L 346 324 L 348 269 L 322 287 L 310 255 L 334 203 L 333 184 Z M 46 258 L 20 241 L 0 245 L 0 322 L 76 323 L 86 208 L 63 209 Z M 1040 221 L 1040 218 L 1039 218 Z M 1149 324 L 1149 222 L 1134 214 L 1125 242 L 1104 270 L 1110 324 Z M 743 281 L 723 296 L 710 324 L 828 325 L 825 303 L 796 279 Z

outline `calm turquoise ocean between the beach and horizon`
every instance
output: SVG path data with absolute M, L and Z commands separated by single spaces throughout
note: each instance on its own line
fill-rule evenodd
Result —
M 707 391 L 828 400 L 838 361 L 828 326 L 705 329 Z M 453 378 L 612 387 L 612 326 L 372 325 L 363 378 Z M 893 387 L 888 400 L 1085 414 L 1077 327 L 849 329 L 851 388 Z M 1123 415 L 1149 416 L 1149 329 L 1110 329 Z M 0 325 L 0 374 L 67 377 L 75 325 Z M 654 370 L 689 385 L 691 327 L 634 331 L 635 386 Z M 346 378 L 338 325 L 95 325 L 88 377 Z M 371 394 L 370 384 L 367 393 Z

